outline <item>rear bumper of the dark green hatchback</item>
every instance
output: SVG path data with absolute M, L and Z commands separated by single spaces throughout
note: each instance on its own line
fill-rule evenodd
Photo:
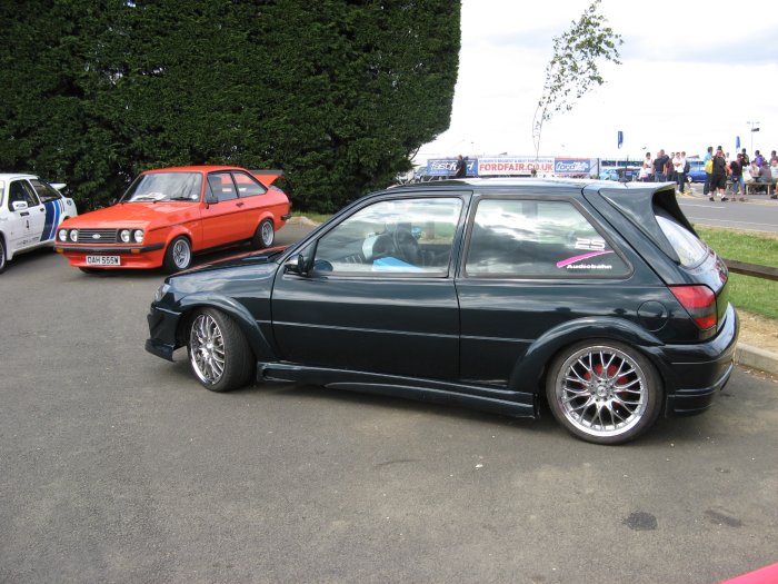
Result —
M 690 416 L 710 407 L 735 368 L 738 330 L 738 316 L 730 305 L 721 330 L 708 343 L 662 348 L 666 416 Z

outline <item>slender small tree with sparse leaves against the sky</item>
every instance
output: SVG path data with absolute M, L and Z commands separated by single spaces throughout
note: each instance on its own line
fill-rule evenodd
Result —
M 577 22 L 571 22 L 568 31 L 553 38 L 553 57 L 546 66 L 543 93 L 532 119 L 536 158 L 540 152 L 543 122 L 558 111 L 571 110 L 575 100 L 594 86 L 605 83 L 597 61 L 605 59 L 621 65 L 618 47 L 624 40 L 606 26 L 606 18 L 597 13 L 599 3 L 600 0 L 595 0 Z

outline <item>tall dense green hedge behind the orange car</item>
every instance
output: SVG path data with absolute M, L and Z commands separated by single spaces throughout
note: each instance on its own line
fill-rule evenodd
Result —
M 449 123 L 450 0 L 0 6 L 0 168 L 87 206 L 146 168 L 281 168 L 295 207 L 385 187 Z

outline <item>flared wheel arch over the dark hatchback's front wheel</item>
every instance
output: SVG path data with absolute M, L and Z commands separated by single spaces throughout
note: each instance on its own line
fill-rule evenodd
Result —
M 237 303 L 233 298 L 227 296 L 213 296 L 211 293 L 207 295 L 191 295 L 187 296 L 180 304 L 181 317 L 178 321 L 176 329 L 177 344 L 180 346 L 186 346 L 188 342 L 189 325 L 192 321 L 192 317 L 198 309 L 201 308 L 215 308 L 225 313 L 227 316 L 232 318 L 238 325 L 240 330 L 246 335 L 246 338 L 253 353 L 255 359 L 271 362 L 276 360 L 276 355 L 265 337 L 257 320 L 249 313 L 248 308 L 240 303 Z

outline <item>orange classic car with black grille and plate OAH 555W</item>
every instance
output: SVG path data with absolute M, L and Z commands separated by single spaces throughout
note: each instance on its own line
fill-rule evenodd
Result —
M 110 207 L 62 221 L 54 248 L 82 271 L 188 268 L 194 254 L 273 244 L 289 199 L 279 170 L 189 166 L 142 172 Z

